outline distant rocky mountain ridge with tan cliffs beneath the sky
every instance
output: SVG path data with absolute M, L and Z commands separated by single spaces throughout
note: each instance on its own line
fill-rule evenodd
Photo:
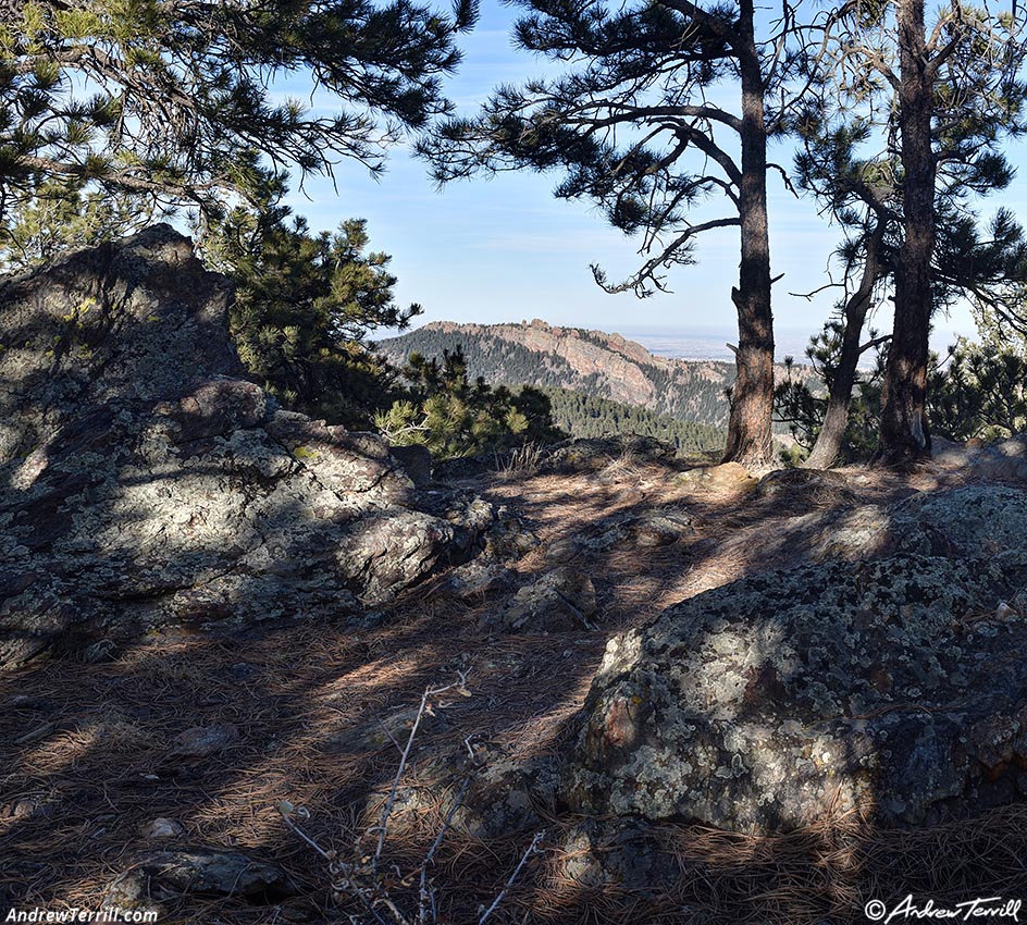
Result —
M 401 365 L 414 351 L 441 357 L 444 349 L 457 345 L 463 348 L 471 377 L 480 375 L 490 384 L 565 388 L 680 421 L 717 428 L 728 423 L 725 390 L 734 382 L 733 363 L 653 356 L 620 334 L 558 328 L 539 320 L 520 324 L 433 321 L 379 342 L 378 349 Z M 779 377 L 783 370 L 778 367 Z M 800 368 L 797 373 L 805 377 L 811 371 Z

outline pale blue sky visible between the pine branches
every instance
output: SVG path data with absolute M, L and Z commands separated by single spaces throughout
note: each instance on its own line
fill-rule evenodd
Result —
M 447 94 L 461 112 L 472 113 L 499 83 L 519 83 L 543 72 L 541 61 L 512 48 L 514 17 L 509 8 L 484 0 L 479 26 L 461 37 L 465 60 L 447 83 Z M 1018 151 L 1011 155 L 1023 160 Z M 789 163 L 790 155 L 779 150 L 776 159 Z M 644 300 L 630 293 L 607 295 L 594 283 L 590 263 L 597 262 L 611 279 L 620 279 L 636 266 L 639 244 L 607 226 L 587 203 L 555 199 L 552 190 L 558 180 L 556 174 L 505 173 L 454 183 L 440 192 L 425 164 L 398 147 L 380 178 L 371 178 L 359 164 L 344 162 L 334 186 L 324 178 L 308 178 L 305 192 L 294 193 L 288 202 L 315 230 L 333 229 L 350 217 L 367 219 L 371 246 L 393 255 L 398 300 L 424 308 L 416 324 L 542 318 L 629 335 L 727 335 L 732 330 L 735 229 L 700 239 L 698 264 L 670 273 L 671 294 Z M 778 340 L 784 350 L 797 353 L 819 330 L 834 297 L 825 294 L 811 303 L 789 293 L 808 292 L 826 282 L 825 267 L 838 244 L 838 230 L 817 215 L 812 199 L 795 199 L 788 193 L 777 175 L 771 174 L 769 183 L 774 273 L 784 274 L 774 289 Z M 998 199 L 1024 214 L 1027 180 L 1017 177 Z M 874 323 L 890 328 L 883 309 Z M 974 333 L 965 308 L 939 319 L 936 326 L 939 347 L 951 342 L 953 333 Z

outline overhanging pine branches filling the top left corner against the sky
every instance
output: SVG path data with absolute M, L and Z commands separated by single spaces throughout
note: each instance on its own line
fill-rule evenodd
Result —
M 0 217 L 47 184 L 121 189 L 205 212 L 281 192 L 285 165 L 381 166 L 381 136 L 448 111 L 453 17 L 410 0 L 26 0 L 0 11 Z M 274 100 L 302 75 L 322 115 Z M 384 122 L 384 125 L 382 124 Z

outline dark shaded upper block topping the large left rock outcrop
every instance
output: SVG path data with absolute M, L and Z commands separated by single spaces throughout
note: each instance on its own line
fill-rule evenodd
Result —
M 154 402 L 213 375 L 239 377 L 225 325 L 231 295 L 169 225 L 0 281 L 0 462 L 87 406 Z

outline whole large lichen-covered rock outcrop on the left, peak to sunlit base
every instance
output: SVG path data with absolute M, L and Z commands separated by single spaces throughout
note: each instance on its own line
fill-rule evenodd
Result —
M 166 225 L 0 284 L 0 666 L 345 615 L 469 554 L 382 441 L 240 378 L 230 298 Z

